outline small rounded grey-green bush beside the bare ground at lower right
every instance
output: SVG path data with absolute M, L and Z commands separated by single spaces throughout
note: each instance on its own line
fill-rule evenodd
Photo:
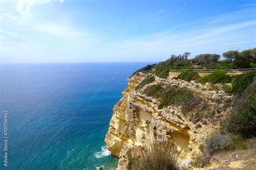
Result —
M 206 140 L 206 153 L 212 155 L 216 151 L 223 150 L 231 143 L 231 138 L 227 134 L 213 134 Z

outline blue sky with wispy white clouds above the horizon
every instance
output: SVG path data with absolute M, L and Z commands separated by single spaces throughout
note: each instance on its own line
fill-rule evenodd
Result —
M 150 62 L 256 47 L 256 1 L 0 1 L 1 63 Z

